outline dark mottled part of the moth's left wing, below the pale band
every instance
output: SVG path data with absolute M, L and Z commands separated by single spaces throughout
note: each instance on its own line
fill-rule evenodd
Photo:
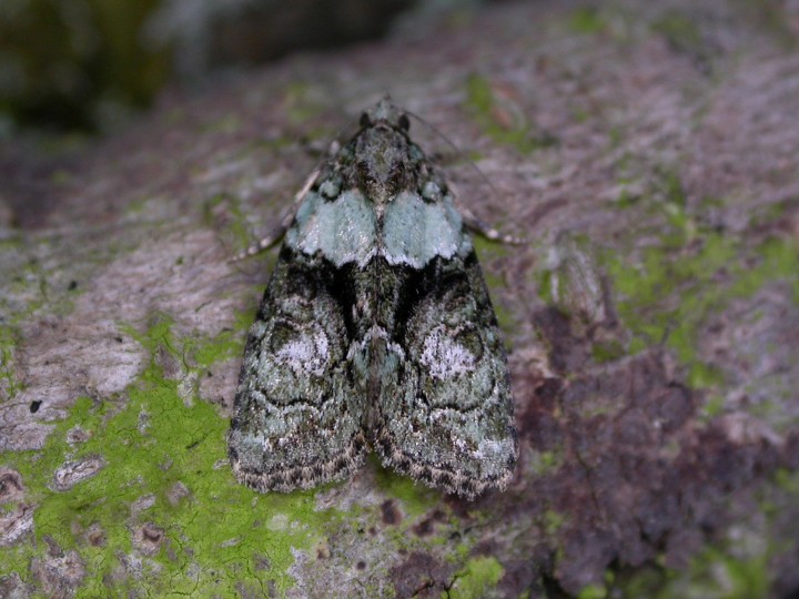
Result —
M 365 398 L 348 376 L 341 293 L 323 257 L 283 246 L 250 329 L 227 437 L 235 476 L 260 491 L 310 488 L 363 464 Z

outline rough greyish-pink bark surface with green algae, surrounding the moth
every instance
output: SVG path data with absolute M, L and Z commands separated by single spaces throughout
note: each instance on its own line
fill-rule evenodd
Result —
M 789 7 L 496 4 L 168 94 L 68 159 L 3 142 L 0 596 L 796 596 Z M 229 258 L 384 91 L 528 240 L 478 247 L 517 473 L 259 495 L 224 435 L 274 254 Z

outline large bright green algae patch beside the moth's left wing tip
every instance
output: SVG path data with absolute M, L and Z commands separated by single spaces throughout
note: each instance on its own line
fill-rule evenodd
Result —
M 135 337 L 151 356 L 166 351 L 180 357 L 181 342 L 168 318 Z M 214 343 L 213 352 L 198 348 L 196 355 L 226 355 L 233 347 L 227 338 Z M 69 447 L 64 436 L 75 426 L 90 437 Z M 80 398 L 44 448 L 2 456 L 2 464 L 20 471 L 27 501 L 37 506 L 37 544 L 0 549 L 0 562 L 32 581 L 30 560 L 47 550 L 41 541 L 49 537 L 84 561 L 79 597 L 108 593 L 108 581 L 118 579 L 121 569 L 120 556 L 141 560 L 142 567 L 119 583 L 119 593 L 135 588 L 155 596 L 231 597 L 239 585 L 253 583 L 284 593 L 293 585 L 287 573 L 295 561 L 292 550 L 313 547 L 341 515 L 317 511 L 312 491 L 260 495 L 236 484 L 226 460 L 226 430 L 227 419 L 215 406 L 183 403 L 178 382 L 164 378 L 154 357 L 127 390 L 127 400 Z M 105 466 L 69 490 L 49 488 L 59 466 L 87 456 L 102 457 Z M 181 486 L 188 496 L 174 494 Z M 146 497 L 150 507 L 142 501 Z M 136 501 L 144 506 L 139 514 L 132 511 Z M 132 542 L 148 522 L 164 529 L 165 537 L 149 557 Z M 103 531 L 100 546 L 83 538 L 92 525 Z

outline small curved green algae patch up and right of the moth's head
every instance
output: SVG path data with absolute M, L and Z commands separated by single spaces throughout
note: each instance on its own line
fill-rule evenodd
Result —
M 549 134 L 537 134 L 524 115 L 519 114 L 515 123 L 508 125 L 500 123 L 496 112 L 502 106 L 494 97 L 490 82 L 483 77 L 473 74 L 466 81 L 466 103 L 475 121 L 493 140 L 512 145 L 522 154 L 529 154 L 557 143 L 557 139 Z

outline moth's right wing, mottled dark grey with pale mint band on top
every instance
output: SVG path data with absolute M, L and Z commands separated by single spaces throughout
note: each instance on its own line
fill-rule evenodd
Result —
M 424 232 L 436 223 L 427 240 L 411 237 L 406 255 L 429 257 L 424 246 L 434 238 L 453 244 L 421 268 L 393 268 L 402 301 L 386 351 L 398 366 L 381 373 L 374 438 L 387 466 L 473 498 L 507 485 L 517 444 L 505 348 L 477 256 L 459 217 L 435 216 L 454 213 L 452 197 L 438 196 L 406 224 Z

